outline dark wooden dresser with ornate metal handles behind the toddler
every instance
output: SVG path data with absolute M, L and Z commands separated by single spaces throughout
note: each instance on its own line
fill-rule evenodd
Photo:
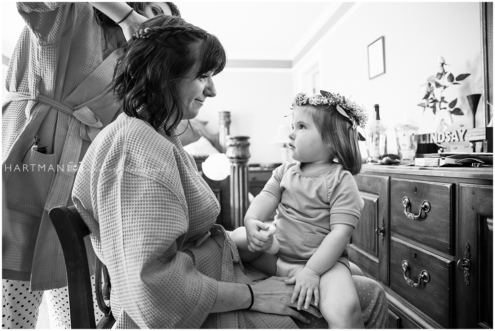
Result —
M 493 328 L 493 169 L 364 165 L 350 259 L 391 329 Z

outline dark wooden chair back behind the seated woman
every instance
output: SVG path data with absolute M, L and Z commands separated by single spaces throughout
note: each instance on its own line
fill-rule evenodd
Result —
M 71 329 L 110 329 L 115 319 L 104 300 L 109 299 L 110 280 L 106 267 L 97 259 L 96 284 L 99 309 L 105 315 L 96 325 L 93 288 L 84 237 L 90 234 L 76 207 L 59 206 L 49 211 L 53 227 L 62 246 L 67 272 Z M 105 285 L 101 288 L 101 274 Z M 105 294 L 103 294 L 105 292 Z

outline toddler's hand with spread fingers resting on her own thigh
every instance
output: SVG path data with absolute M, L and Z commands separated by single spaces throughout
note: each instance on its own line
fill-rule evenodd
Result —
M 297 309 L 300 310 L 302 308 L 302 304 L 304 303 L 304 299 L 306 303 L 304 304 L 304 308 L 309 308 L 309 303 L 311 302 L 311 298 L 314 294 L 314 305 L 318 306 L 320 301 L 320 294 L 318 292 L 318 286 L 320 284 L 320 275 L 318 275 L 313 270 L 308 267 L 302 268 L 295 276 L 285 281 L 286 284 L 296 284 L 294 287 L 294 292 L 292 293 L 291 302 L 296 302 L 297 297 L 299 297 L 297 301 Z

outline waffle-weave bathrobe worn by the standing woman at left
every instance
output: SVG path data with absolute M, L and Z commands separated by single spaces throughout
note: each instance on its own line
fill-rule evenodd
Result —
M 103 37 L 86 2 L 17 2 L 17 8 L 26 26 L 2 105 L 2 180 L 13 235 L 2 252 L 2 278 L 31 280 L 38 291 L 67 284 L 48 211 L 71 204 L 76 172 L 68 165 L 77 165 L 117 116 L 106 89 L 121 54 L 117 41 L 125 39 L 119 27 Z

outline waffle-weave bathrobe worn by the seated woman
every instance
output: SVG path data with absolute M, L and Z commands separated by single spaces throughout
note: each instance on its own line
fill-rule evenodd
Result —
M 81 163 L 73 200 L 112 282 L 117 328 L 295 328 L 247 310 L 209 314 L 218 281 L 253 284 L 220 205 L 176 136 L 119 115 Z

